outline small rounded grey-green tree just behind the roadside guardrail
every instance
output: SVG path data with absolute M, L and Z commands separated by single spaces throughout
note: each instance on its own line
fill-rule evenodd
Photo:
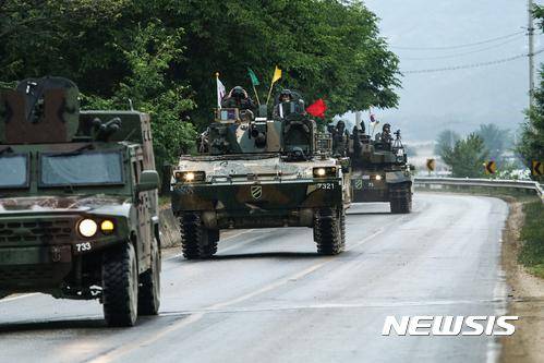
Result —
M 444 162 L 451 168 L 455 178 L 481 178 L 484 176 L 483 164 L 487 158 L 484 141 L 471 133 L 467 138 L 456 142 L 444 156 Z

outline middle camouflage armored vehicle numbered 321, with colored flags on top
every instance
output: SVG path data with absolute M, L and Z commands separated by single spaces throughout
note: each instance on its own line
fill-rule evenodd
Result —
M 343 251 L 349 179 L 330 157 L 330 141 L 300 98 L 274 114 L 266 107 L 258 117 L 217 109 L 202 153 L 181 156 L 173 168 L 172 210 L 185 258 L 211 257 L 223 229 L 310 227 L 318 253 Z

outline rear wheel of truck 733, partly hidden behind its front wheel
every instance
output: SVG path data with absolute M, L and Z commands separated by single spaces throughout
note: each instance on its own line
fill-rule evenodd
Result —
M 138 315 L 157 315 L 160 306 L 160 251 L 157 239 L 152 243 L 152 266 L 140 276 Z

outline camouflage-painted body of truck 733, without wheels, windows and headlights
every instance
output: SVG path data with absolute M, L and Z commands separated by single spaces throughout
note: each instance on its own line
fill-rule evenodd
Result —
M 138 184 L 144 170 L 155 169 L 149 117 L 135 111 L 80 112 L 77 97 L 77 87 L 59 77 L 25 80 L 17 89 L 0 93 L 0 161 L 20 156 L 25 168 L 25 180 L 17 185 L 0 176 L 0 295 L 39 291 L 58 298 L 101 298 L 106 253 L 133 244 L 142 274 L 150 268 L 153 242 L 160 243 L 157 190 Z M 120 160 L 120 179 L 45 182 L 47 157 L 80 156 Z M 101 165 L 87 168 L 96 167 Z M 51 170 L 49 174 L 62 172 Z M 93 237 L 81 234 L 84 219 L 98 223 Z M 112 231 L 100 230 L 105 220 L 113 223 Z

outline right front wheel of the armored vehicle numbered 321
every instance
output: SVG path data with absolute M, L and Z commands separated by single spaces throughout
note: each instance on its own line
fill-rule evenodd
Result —
M 346 247 L 346 211 L 337 209 L 321 210 L 314 220 L 314 241 L 317 253 L 337 255 Z

